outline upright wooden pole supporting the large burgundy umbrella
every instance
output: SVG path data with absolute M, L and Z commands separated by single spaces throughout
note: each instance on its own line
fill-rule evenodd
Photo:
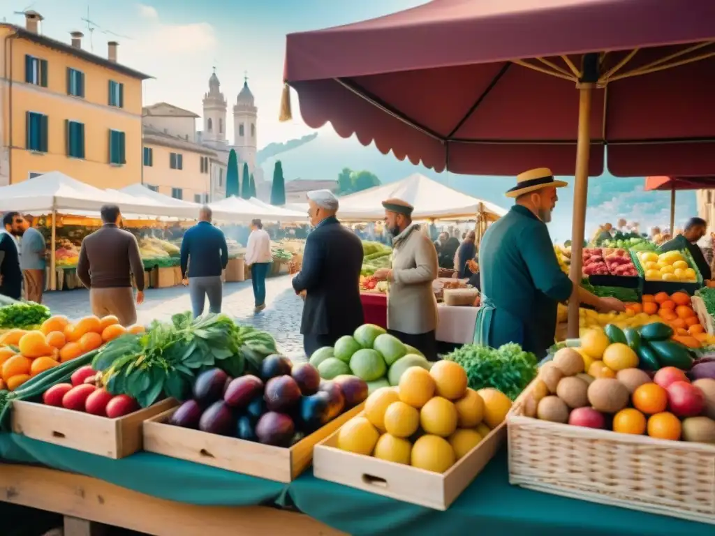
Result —
M 573 220 L 571 222 L 571 272 L 573 292 L 568 301 L 568 338 L 578 337 L 578 287 L 581 286 L 583 236 L 586 232 L 586 197 L 588 195 L 588 158 L 591 152 L 591 100 L 594 84 L 578 88 L 578 142 L 576 143 L 576 181 L 573 184 Z

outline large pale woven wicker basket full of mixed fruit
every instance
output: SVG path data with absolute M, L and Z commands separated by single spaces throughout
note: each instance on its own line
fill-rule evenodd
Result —
M 523 398 L 507 424 L 511 484 L 715 524 L 715 445 L 525 417 Z

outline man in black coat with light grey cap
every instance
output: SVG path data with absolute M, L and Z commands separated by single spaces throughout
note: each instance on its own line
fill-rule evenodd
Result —
M 293 289 L 305 296 L 300 333 L 310 357 L 318 348 L 352 335 L 364 322 L 360 302 L 363 244 L 337 221 L 337 197 L 328 190 L 309 192 L 307 197 L 314 228 L 305 241 Z

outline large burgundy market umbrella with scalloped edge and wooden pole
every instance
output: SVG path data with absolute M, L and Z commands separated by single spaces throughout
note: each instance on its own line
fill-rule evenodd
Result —
M 413 164 L 574 174 L 578 282 L 587 179 L 606 145 L 618 176 L 714 169 L 714 20 L 713 0 L 433 0 L 288 35 L 284 80 L 308 125 Z M 570 337 L 577 321 L 574 299 Z

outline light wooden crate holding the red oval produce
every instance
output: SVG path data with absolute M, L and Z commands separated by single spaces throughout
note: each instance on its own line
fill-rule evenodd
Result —
M 53 445 L 119 459 L 142 450 L 144 420 L 175 405 L 176 400 L 166 399 L 124 417 L 108 419 L 16 400 L 12 403 L 12 431 Z

